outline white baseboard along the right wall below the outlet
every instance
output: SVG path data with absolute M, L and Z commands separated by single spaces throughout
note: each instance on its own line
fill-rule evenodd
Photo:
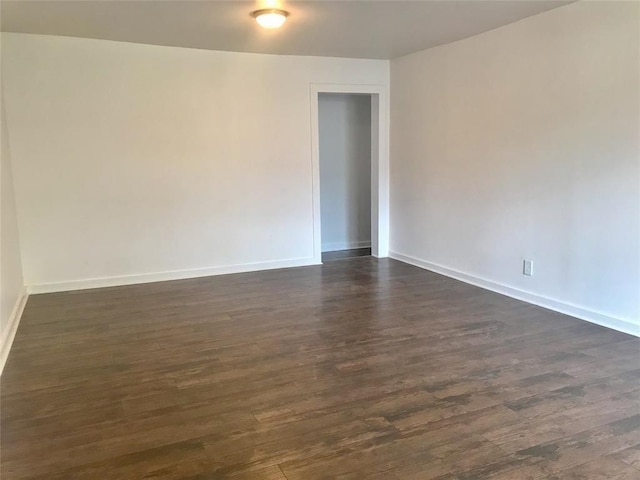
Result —
M 460 280 L 461 282 L 475 285 L 476 287 L 491 290 L 492 292 L 500 293 L 502 295 L 506 295 L 507 297 L 516 298 L 518 300 L 522 300 L 523 302 L 531 303 L 533 305 L 538 305 L 540 307 L 548 308 L 549 310 L 579 318 L 580 320 L 586 320 L 587 322 L 595 323 L 603 327 L 618 330 L 619 332 L 628 333 L 629 335 L 640 337 L 640 325 L 628 320 L 612 317 L 604 313 L 589 310 L 577 305 L 572 305 L 570 303 L 561 302 L 559 300 L 554 300 L 552 298 L 543 297 L 541 295 L 526 292 L 518 288 L 509 287 L 501 283 L 492 282 L 491 280 L 476 277 L 474 275 L 460 272 L 452 268 L 443 267 L 442 265 L 427 262 L 410 255 L 403 255 L 397 252 L 389 252 L 389 256 L 401 262 L 424 268 L 425 270 L 439 273 L 446 277 L 454 278 L 456 280 Z

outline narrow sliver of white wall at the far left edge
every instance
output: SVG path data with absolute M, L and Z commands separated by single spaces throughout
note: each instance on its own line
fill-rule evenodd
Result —
M 1 99 L 0 114 L 2 128 L 0 135 L 0 371 L 2 371 L 22 314 L 26 295 L 22 282 L 11 151 L 7 138 L 4 102 Z

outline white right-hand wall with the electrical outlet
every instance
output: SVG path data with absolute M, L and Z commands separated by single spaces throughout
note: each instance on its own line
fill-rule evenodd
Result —
M 394 256 L 640 333 L 639 8 L 578 2 L 392 61 Z

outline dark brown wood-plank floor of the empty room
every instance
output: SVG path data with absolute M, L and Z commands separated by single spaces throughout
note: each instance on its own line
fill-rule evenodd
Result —
M 36 295 L 14 479 L 640 479 L 640 340 L 393 260 Z

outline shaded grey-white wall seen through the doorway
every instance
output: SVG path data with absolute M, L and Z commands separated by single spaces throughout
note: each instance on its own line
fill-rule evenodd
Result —
M 371 96 L 321 93 L 322 251 L 371 246 Z

